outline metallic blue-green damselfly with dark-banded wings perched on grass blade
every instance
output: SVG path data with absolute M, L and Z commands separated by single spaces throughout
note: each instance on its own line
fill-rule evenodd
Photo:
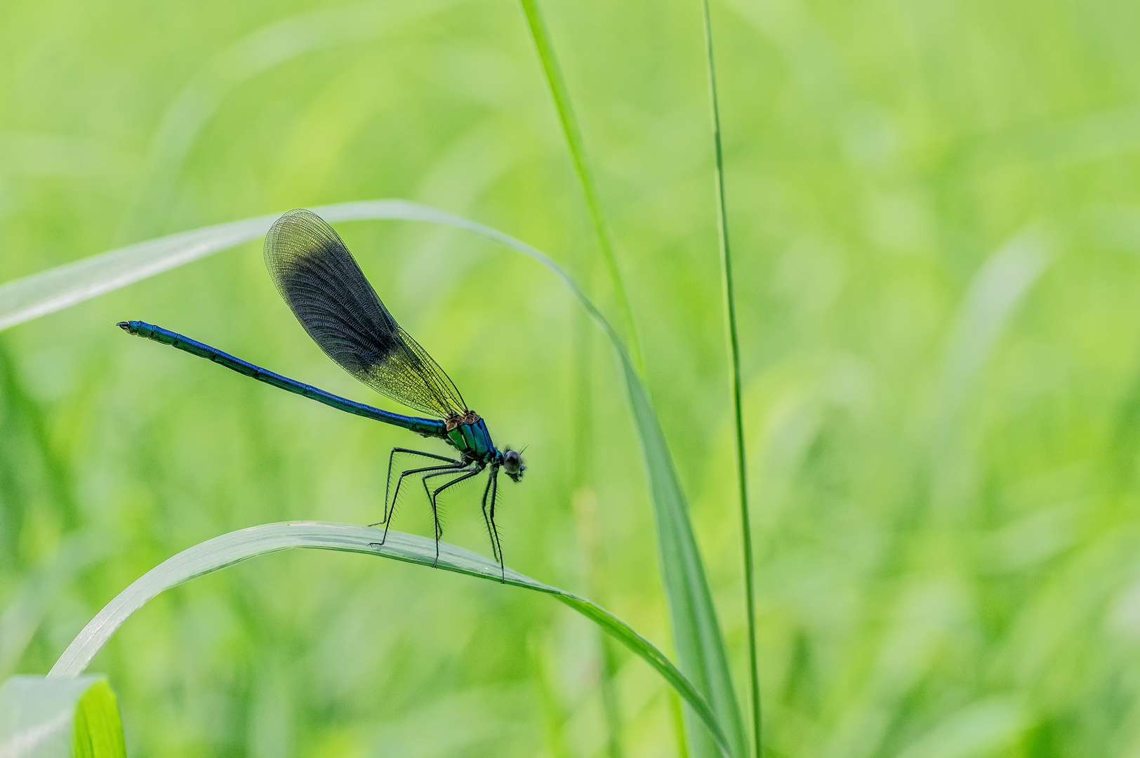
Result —
M 467 407 L 439 364 L 432 360 L 412 335 L 400 328 L 340 236 L 316 213 L 298 209 L 277 219 L 266 236 L 264 256 L 266 267 L 282 298 L 304 331 L 329 358 L 377 392 L 431 417 L 405 416 L 325 392 L 161 326 L 145 321 L 120 321 L 119 326 L 130 334 L 207 358 L 259 382 L 295 392 L 326 406 L 443 440 L 456 449 L 457 457 L 410 448 L 392 450 L 388 457 L 384 517 L 372 525 L 384 525 L 380 540 L 383 544 L 396 514 L 396 502 L 405 479 L 418 476 L 435 524 L 438 564 L 439 540 L 443 533 L 439 522 L 439 496 L 451 487 L 489 471 L 482 495 L 483 521 L 491 540 L 491 552 L 499 562 L 505 581 L 503 548 L 495 525 L 498 474 L 502 470 L 512 480 L 520 481 L 527 468 L 522 455 L 518 450 L 499 450 L 495 447 L 483 419 Z M 404 455 L 420 457 L 427 465 L 400 471 L 393 487 L 393 466 L 397 456 Z

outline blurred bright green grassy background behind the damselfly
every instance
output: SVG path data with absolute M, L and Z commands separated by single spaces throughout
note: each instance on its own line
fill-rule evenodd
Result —
M 743 703 L 700 7 L 543 9 Z M 1140 5 L 712 14 L 769 755 L 1140 755 Z M 0 282 L 375 197 L 526 239 L 617 312 L 512 1 L 0 6 Z M 668 650 L 629 413 L 578 307 L 458 233 L 339 230 L 496 441 L 529 445 L 500 512 L 507 563 Z M 259 243 L 0 334 L 0 678 L 44 673 L 198 541 L 377 520 L 388 449 L 409 441 L 127 339 L 109 324 L 127 318 L 392 407 L 309 341 Z M 397 529 L 430 533 L 418 505 Z M 445 530 L 489 554 L 470 500 Z M 180 587 L 92 670 L 132 756 L 606 751 L 586 621 L 353 555 Z M 625 755 L 676 755 L 659 677 L 620 653 L 613 682 Z

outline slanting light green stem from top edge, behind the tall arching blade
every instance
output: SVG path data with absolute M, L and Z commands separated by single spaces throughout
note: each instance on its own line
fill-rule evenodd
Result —
M 605 226 L 605 217 L 602 213 L 602 199 L 597 194 L 597 182 L 594 180 L 594 173 L 586 161 L 586 147 L 583 144 L 581 130 L 578 128 L 578 119 L 575 116 L 573 107 L 570 105 L 570 93 L 567 90 L 565 80 L 562 79 L 562 70 L 559 67 L 557 58 L 554 55 L 554 46 L 546 31 L 543 16 L 538 10 L 537 0 L 520 0 L 520 2 L 522 3 L 523 13 L 527 15 L 530 35 L 535 40 L 535 47 L 538 50 L 538 58 L 543 62 L 543 71 L 546 73 L 546 83 L 551 88 L 551 96 L 554 98 L 554 105 L 559 112 L 562 133 L 565 136 L 575 172 L 578 174 L 583 195 L 586 197 L 586 209 L 589 211 L 589 220 L 594 226 L 597 245 L 602 250 L 602 258 L 605 260 L 605 268 L 609 270 L 610 282 L 618 299 L 618 308 L 621 310 L 626 339 L 629 343 L 629 354 L 637 370 L 644 375 L 645 368 L 642 364 L 641 343 L 637 340 L 634 311 L 629 304 L 629 296 L 626 294 L 626 286 L 621 279 L 621 270 L 618 268 L 617 255 L 613 253 L 613 242 L 610 239 L 610 231 Z

